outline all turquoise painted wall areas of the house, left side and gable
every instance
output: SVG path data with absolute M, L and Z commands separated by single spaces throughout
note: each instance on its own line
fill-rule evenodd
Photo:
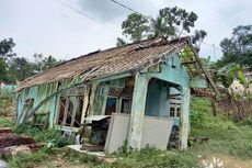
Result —
M 151 79 L 161 79 L 163 81 L 175 83 L 183 88 L 190 87 L 190 77 L 184 66 L 182 66 L 180 58 L 177 55 L 168 56 L 168 58 L 163 61 L 161 72 L 147 72 L 146 78 Z M 23 110 L 23 105 L 26 99 L 34 99 L 33 107 L 36 107 L 41 101 L 43 101 L 46 97 L 56 92 L 59 89 L 68 88 L 76 82 L 79 81 L 79 78 L 76 80 L 64 80 L 58 85 L 58 82 L 53 83 L 43 83 L 39 86 L 31 87 L 25 89 L 20 93 L 18 98 L 18 114 Z M 114 82 L 107 83 L 107 86 L 118 86 L 124 87 L 125 81 L 116 80 Z M 137 82 L 137 85 L 144 85 L 141 82 Z M 136 86 L 135 86 L 136 87 Z M 142 87 L 139 87 L 142 88 Z M 169 107 L 167 103 L 169 88 L 163 85 L 153 85 L 148 87 L 147 101 L 145 113 L 151 116 L 169 116 Z M 99 100 L 99 114 L 103 111 L 104 105 L 102 102 L 103 99 Z M 37 112 L 50 112 L 49 121 L 50 125 L 53 125 L 56 116 L 56 112 L 58 109 L 57 105 L 58 97 L 54 97 L 45 104 L 43 104 Z

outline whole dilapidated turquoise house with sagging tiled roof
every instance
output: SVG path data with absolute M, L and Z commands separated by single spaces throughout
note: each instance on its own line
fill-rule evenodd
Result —
M 190 133 L 191 89 L 216 89 L 187 37 L 98 51 L 22 81 L 18 121 L 80 133 L 83 149 L 165 149 Z

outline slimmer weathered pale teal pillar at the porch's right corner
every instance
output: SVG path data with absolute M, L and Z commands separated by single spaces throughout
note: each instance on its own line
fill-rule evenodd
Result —
M 190 88 L 181 89 L 181 117 L 180 117 L 180 137 L 179 147 L 181 150 L 187 148 L 188 128 L 190 128 Z

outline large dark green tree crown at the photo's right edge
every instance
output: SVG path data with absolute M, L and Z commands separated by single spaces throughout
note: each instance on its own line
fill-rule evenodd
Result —
M 224 56 L 218 61 L 222 67 L 230 63 L 245 65 L 252 68 L 252 25 L 239 25 L 233 29 L 230 38 L 220 42 Z

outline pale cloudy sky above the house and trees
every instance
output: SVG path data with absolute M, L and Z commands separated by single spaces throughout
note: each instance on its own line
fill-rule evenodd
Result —
M 174 5 L 196 12 L 195 29 L 208 33 L 205 42 L 217 46 L 217 58 L 221 56 L 219 42 L 230 36 L 233 27 L 252 24 L 251 0 L 117 1 L 151 16 Z M 122 36 L 121 23 L 129 13 L 111 0 L 0 0 L 0 40 L 13 37 L 14 52 L 30 60 L 34 53 L 69 59 L 115 46 L 116 37 Z M 203 44 L 201 56 L 208 55 L 215 60 L 213 47 Z

